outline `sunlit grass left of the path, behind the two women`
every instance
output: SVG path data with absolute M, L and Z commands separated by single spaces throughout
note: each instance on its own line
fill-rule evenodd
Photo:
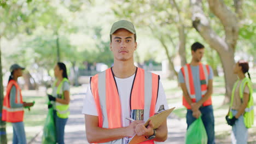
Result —
M 51 90 L 51 89 L 48 89 Z M 84 87 L 72 87 L 71 95 L 75 93 L 84 93 Z M 50 91 L 48 91 L 50 93 Z M 48 98 L 45 91 L 22 91 L 23 101 L 35 101 L 30 111 L 25 109 L 24 125 L 27 143 L 30 142 L 42 129 L 48 112 Z M 71 97 L 72 100 L 72 97 Z M 11 123 L 7 123 L 7 139 L 8 144 L 13 140 L 13 127 Z

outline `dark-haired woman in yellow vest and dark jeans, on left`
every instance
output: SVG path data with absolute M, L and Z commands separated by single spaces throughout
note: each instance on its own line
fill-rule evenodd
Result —
M 64 63 L 58 62 L 54 68 L 56 81 L 53 85 L 52 95 L 48 95 L 49 100 L 53 101 L 54 120 L 56 128 L 56 142 L 64 143 L 65 125 L 69 116 L 69 81 L 67 69 Z

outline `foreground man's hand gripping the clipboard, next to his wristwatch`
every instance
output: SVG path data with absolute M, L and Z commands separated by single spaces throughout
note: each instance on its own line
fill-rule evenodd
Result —
M 145 127 L 144 123 L 139 123 L 138 125 L 136 125 L 135 131 L 138 136 L 143 135 L 143 136 L 149 137 L 154 134 L 153 128 L 154 128 L 153 123 L 149 121 L 147 128 Z

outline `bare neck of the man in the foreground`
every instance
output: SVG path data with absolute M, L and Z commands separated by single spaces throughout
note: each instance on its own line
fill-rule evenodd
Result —
M 133 60 L 132 61 L 114 61 L 112 70 L 116 77 L 120 79 L 125 79 L 135 74 L 136 67 L 133 63 Z

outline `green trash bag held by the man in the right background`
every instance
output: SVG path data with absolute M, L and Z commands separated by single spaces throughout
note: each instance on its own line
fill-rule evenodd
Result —
M 185 143 L 186 144 L 207 144 L 207 133 L 205 125 L 202 123 L 201 116 L 197 118 L 188 128 Z

